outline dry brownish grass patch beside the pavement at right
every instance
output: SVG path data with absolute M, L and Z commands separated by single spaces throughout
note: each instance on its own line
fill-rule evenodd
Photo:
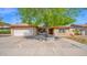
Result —
M 74 36 L 68 36 L 68 39 L 72 39 L 83 44 L 87 44 L 87 36 L 74 35 Z

